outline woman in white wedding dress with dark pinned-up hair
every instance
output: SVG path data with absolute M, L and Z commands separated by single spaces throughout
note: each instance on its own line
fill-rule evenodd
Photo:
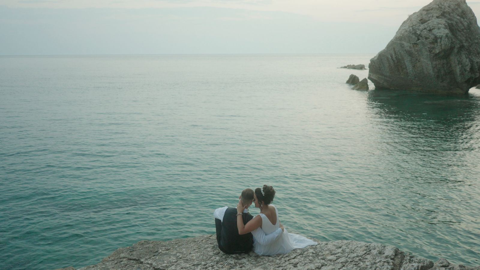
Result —
M 278 210 L 273 204 L 270 204 L 274 197 L 275 190 L 272 186 L 264 185 L 255 189 L 253 201 L 255 202 L 255 207 L 260 208 L 260 214 L 245 225 L 243 225 L 241 215 L 237 215 L 239 234 L 250 233 L 257 228 L 261 228 L 265 234 L 269 234 L 275 232 L 280 227 L 283 228 L 278 219 Z M 242 213 L 243 209 L 244 207 L 239 202 L 237 213 Z M 286 254 L 295 248 L 304 248 L 308 245 L 317 245 L 317 242 L 299 234 L 288 233 L 284 229 L 284 233 L 270 244 L 262 245 L 258 241 L 254 241 L 253 251 L 258 255 Z

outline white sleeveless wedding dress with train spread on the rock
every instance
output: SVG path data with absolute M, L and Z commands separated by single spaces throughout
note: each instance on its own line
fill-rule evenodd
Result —
M 276 224 L 272 224 L 268 218 L 260 213 L 262 217 L 262 230 L 265 234 L 270 234 L 275 232 L 280 228 L 280 219 L 278 218 L 278 210 L 274 205 L 270 205 L 275 208 L 276 212 Z M 275 254 L 286 254 L 296 248 L 304 248 L 309 245 L 317 245 L 317 242 L 314 242 L 306 237 L 303 237 L 299 234 L 288 233 L 287 229 L 284 230 L 283 234 L 276 239 L 276 241 L 268 244 L 261 245 L 257 241 L 253 241 L 253 251 L 258 255 L 275 255 Z

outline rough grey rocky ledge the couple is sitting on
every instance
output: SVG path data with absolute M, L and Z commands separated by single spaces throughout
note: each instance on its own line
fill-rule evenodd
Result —
M 312 238 L 311 238 L 312 239 Z M 173 269 L 372 269 L 372 270 L 480 270 L 450 264 L 445 259 L 433 263 L 394 246 L 356 241 L 318 242 L 285 255 L 227 255 L 218 250 L 215 235 L 172 241 L 140 241 L 117 249 L 96 265 L 79 270 L 173 270 Z M 64 270 L 74 270 L 73 267 Z

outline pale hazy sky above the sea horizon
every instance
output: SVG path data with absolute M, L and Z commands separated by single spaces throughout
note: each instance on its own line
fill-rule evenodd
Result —
M 377 53 L 430 2 L 0 0 L 0 55 Z

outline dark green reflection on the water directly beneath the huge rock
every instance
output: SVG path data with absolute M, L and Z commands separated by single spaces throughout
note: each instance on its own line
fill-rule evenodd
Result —
M 478 135 L 480 98 L 434 96 L 407 91 L 370 91 L 368 105 L 386 120 L 395 121 L 401 134 L 441 139 L 454 145 L 468 143 Z M 408 135 L 405 134 L 405 135 Z M 450 145 L 449 145 L 450 146 Z

